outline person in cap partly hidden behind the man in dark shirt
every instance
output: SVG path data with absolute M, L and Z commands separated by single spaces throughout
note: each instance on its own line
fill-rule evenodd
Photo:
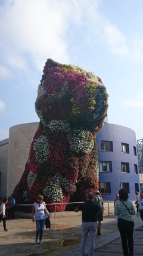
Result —
M 104 210 L 104 203 L 102 200 L 102 197 L 100 197 L 100 191 L 96 190 L 95 191 L 95 197 L 94 197 L 94 203 L 97 203 L 98 206 L 100 207 L 100 215 L 97 216 L 98 220 L 98 227 L 97 227 L 97 234 L 100 236 L 101 235 L 101 221 L 103 221 L 103 210 Z

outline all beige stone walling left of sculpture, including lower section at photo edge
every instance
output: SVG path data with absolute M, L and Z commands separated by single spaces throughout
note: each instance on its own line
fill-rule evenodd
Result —
M 0 141 L 0 195 L 11 195 L 19 182 L 38 125 L 38 122 L 15 125 L 10 128 L 9 139 Z

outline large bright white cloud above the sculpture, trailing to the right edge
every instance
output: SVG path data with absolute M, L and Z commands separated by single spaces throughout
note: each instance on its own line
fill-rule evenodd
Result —
M 72 45 L 72 40 L 102 41 L 116 55 L 141 59 L 141 39 L 136 37 L 128 44 L 126 35 L 101 13 L 99 0 L 3 1 L 0 35 L 3 78 L 13 70 L 27 73 L 34 67 L 41 71 L 47 58 L 69 64 L 69 47 L 73 53 L 80 48 L 78 43 Z

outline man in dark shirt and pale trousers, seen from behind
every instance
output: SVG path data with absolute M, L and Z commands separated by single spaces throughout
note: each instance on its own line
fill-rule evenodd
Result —
M 85 203 L 80 203 L 74 212 L 82 210 L 82 240 L 80 245 L 80 256 L 85 256 L 86 240 L 89 234 L 89 256 L 94 255 L 94 240 L 97 227 L 97 215 L 100 213 L 98 204 L 94 203 L 94 194 L 89 191 L 86 193 Z

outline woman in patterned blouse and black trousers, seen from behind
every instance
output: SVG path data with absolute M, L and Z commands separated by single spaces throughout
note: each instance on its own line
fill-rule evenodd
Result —
M 135 215 L 135 208 L 132 201 L 128 200 L 128 191 L 126 189 L 119 190 L 119 200 L 114 206 L 114 215 L 118 215 L 118 229 L 122 240 L 122 248 L 124 256 L 133 256 L 133 219 L 131 215 Z

